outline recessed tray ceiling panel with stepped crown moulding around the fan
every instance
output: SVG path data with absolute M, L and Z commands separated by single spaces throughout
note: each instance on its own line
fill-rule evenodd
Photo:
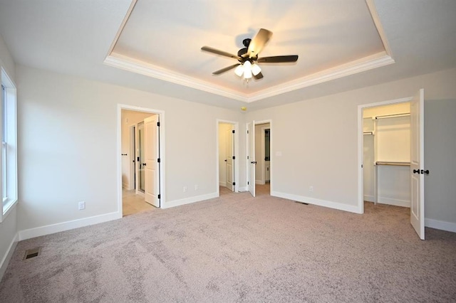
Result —
M 238 95 L 239 100 L 259 100 L 261 95 L 304 87 L 306 81 L 323 82 L 315 81 L 318 77 L 338 78 L 326 75 L 343 75 L 340 72 L 348 68 L 363 71 L 382 65 L 360 68 L 390 58 L 374 20 L 375 8 L 364 0 L 138 0 L 108 58 L 111 65 L 128 65 L 126 69 L 152 77 L 202 90 L 214 88 L 216 93 Z M 249 83 L 234 70 L 212 75 L 237 60 L 204 52 L 202 46 L 237 54 L 244 38 L 253 38 L 260 28 L 273 32 L 260 58 L 299 55 L 299 60 L 259 63 L 264 78 Z

